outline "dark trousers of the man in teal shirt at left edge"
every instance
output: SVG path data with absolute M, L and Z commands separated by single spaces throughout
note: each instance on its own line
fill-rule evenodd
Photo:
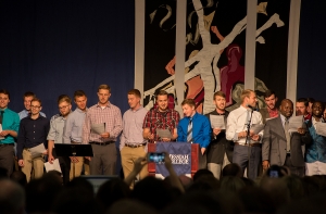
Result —
M 13 144 L 0 144 L 0 167 L 7 169 L 7 176 L 12 174 L 14 165 Z

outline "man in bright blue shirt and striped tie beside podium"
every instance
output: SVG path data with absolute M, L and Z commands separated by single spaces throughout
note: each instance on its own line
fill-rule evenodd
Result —
M 178 124 L 179 142 L 199 143 L 199 169 L 206 168 L 206 149 L 211 141 L 211 125 L 206 116 L 196 112 L 192 99 L 181 103 L 185 117 Z

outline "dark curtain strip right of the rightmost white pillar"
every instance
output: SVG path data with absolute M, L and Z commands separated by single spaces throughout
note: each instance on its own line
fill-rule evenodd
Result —
M 297 98 L 326 101 L 325 1 L 301 1 Z

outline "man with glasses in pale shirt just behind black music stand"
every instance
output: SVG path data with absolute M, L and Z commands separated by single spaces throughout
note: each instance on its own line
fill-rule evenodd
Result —
M 50 131 L 48 135 L 48 161 L 53 163 L 57 158 L 54 143 L 63 143 L 63 128 L 65 119 L 72 111 L 72 100 L 68 96 L 62 95 L 58 98 L 58 105 L 60 114 L 52 116 L 50 121 Z M 67 184 L 70 180 L 71 161 L 68 156 L 59 156 L 59 163 L 63 175 L 63 182 Z

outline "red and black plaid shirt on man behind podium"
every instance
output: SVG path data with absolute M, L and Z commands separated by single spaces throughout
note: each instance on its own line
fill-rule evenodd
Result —
M 165 112 L 160 112 L 158 109 L 151 109 L 145 116 L 142 128 L 149 128 L 154 135 L 152 141 L 159 141 L 156 129 L 168 129 L 173 134 L 180 121 L 180 114 L 176 110 L 167 109 Z

